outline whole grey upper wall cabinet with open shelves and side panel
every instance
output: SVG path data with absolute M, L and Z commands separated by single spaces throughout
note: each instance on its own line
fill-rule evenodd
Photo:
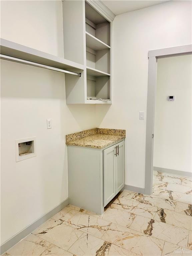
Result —
M 114 16 L 110 16 L 110 10 L 100 1 L 69 0 L 62 3 L 64 41 L 67 38 L 65 58 L 84 65 L 78 86 L 74 76 L 67 75 L 66 103 L 111 104 Z

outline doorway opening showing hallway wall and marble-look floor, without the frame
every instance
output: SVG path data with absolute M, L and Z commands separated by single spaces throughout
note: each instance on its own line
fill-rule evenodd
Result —
M 191 204 L 192 55 L 157 58 L 152 194 Z

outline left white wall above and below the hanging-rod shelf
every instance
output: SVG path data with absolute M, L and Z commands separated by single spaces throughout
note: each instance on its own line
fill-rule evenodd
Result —
M 2 38 L 63 56 L 61 1 L 1 4 Z M 65 135 L 96 126 L 95 106 L 66 105 L 64 74 L 1 61 L 1 243 L 68 197 Z M 16 162 L 31 136 L 37 156 Z

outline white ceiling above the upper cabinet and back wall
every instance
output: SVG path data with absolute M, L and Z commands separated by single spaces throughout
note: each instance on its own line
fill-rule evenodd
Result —
M 131 12 L 135 10 L 139 10 L 145 7 L 149 7 L 156 4 L 161 4 L 167 2 L 169 0 L 164 1 L 137 1 L 137 0 L 102 0 L 102 2 L 115 14 L 122 14 L 126 12 Z

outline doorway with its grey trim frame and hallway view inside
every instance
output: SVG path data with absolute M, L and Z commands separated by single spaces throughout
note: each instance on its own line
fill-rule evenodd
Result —
M 192 45 L 152 50 L 148 57 L 145 194 L 154 187 L 155 195 L 174 200 L 176 185 L 191 185 Z

